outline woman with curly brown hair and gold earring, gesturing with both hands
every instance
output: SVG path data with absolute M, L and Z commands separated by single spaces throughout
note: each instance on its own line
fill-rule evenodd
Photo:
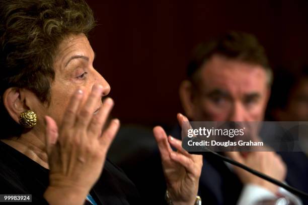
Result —
M 36 204 L 146 204 L 106 160 L 120 123 L 112 119 L 102 131 L 114 103 L 102 102 L 110 86 L 93 67 L 89 6 L 6 0 L 0 19 L 0 193 L 32 194 Z M 153 131 L 168 201 L 194 204 L 202 157 L 188 154 L 161 127 Z

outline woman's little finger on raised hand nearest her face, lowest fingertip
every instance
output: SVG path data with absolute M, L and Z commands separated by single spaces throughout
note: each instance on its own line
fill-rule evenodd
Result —
M 116 133 L 120 127 L 120 120 L 113 119 L 111 120 L 108 128 L 103 132 L 101 138 L 99 139 L 105 154 L 107 153 L 113 139 L 115 138 Z

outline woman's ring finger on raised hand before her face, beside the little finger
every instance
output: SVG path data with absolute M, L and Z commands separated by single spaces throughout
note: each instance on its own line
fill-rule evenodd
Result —
M 113 107 L 113 100 L 111 98 L 107 98 L 99 112 L 92 117 L 91 123 L 89 125 L 89 131 L 93 133 L 93 136 L 100 137 L 103 125 L 105 124 L 108 115 Z

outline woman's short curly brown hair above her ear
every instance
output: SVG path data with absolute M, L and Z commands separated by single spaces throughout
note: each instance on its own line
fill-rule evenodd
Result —
M 0 112 L 8 117 L 10 135 L 20 135 L 22 128 L 7 113 L 4 92 L 26 88 L 49 103 L 60 42 L 71 34 L 87 35 L 94 26 L 93 12 L 84 0 L 0 1 Z

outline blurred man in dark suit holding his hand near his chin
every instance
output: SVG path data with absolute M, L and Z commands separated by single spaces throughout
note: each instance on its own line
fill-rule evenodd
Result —
M 230 32 L 200 44 L 187 76 L 180 86 L 180 98 L 191 121 L 263 121 L 272 71 L 263 47 L 253 35 Z M 286 166 L 274 152 L 225 154 L 279 181 L 285 180 Z M 205 153 L 203 164 L 199 191 L 209 204 L 254 204 L 281 193 L 272 183 L 210 154 Z M 295 185 L 288 178 L 286 181 Z

